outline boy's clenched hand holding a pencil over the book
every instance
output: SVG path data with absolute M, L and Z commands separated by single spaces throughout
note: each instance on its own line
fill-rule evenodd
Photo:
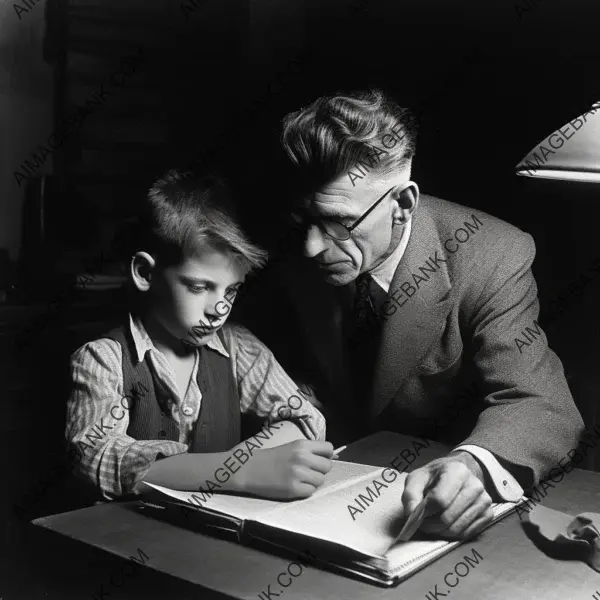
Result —
M 331 470 L 330 442 L 298 440 L 258 450 L 240 471 L 244 491 L 265 498 L 307 498 Z

